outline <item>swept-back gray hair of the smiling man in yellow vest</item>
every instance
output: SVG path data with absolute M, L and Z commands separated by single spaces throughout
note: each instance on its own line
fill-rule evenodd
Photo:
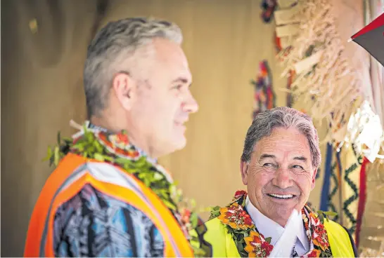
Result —
M 305 135 L 312 154 L 312 165 L 314 168 L 319 168 L 321 163 L 319 137 L 312 119 L 307 114 L 290 107 L 275 107 L 274 109 L 262 111 L 255 116 L 245 136 L 241 161 L 249 162 L 255 144 L 263 137 L 271 135 L 274 128 L 296 128 Z

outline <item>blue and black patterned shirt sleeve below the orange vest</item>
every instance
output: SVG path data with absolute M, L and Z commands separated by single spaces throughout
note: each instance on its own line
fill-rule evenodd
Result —
M 56 257 L 162 257 L 164 241 L 151 219 L 90 184 L 58 208 Z

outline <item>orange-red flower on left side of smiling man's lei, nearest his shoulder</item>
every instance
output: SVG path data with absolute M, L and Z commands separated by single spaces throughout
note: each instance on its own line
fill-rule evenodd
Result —
M 224 224 L 231 226 L 232 229 L 252 229 L 254 224 L 241 205 L 233 203 L 229 207 L 220 208 L 218 217 Z

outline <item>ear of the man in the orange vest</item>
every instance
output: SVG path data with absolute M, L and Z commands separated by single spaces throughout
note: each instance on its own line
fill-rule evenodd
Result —
M 112 88 L 122 107 L 126 110 L 131 109 L 136 93 L 132 77 L 125 73 L 116 74 L 112 81 Z

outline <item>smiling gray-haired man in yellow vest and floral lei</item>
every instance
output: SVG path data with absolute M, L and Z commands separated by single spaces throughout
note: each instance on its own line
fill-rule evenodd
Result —
M 320 163 L 309 116 L 289 107 L 257 114 L 240 162 L 248 192 L 236 191 L 231 203 L 213 208 L 205 223 L 213 256 L 268 257 L 297 210 L 291 257 L 357 257 L 350 233 L 307 205 Z

